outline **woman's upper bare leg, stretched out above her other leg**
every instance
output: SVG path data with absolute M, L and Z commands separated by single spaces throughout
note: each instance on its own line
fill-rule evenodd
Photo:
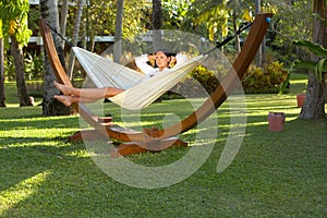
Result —
M 124 89 L 116 87 L 104 87 L 104 88 L 75 88 L 53 82 L 55 86 L 63 93 L 65 96 L 80 96 L 84 98 L 100 99 L 116 96 Z

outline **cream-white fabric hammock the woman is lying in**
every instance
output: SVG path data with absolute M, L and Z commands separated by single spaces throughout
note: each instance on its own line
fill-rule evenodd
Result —
M 203 55 L 197 56 L 140 83 L 145 76 L 141 72 L 78 47 L 73 47 L 73 51 L 98 88 L 111 86 L 125 89 L 109 99 L 129 110 L 140 110 L 150 105 L 206 58 Z

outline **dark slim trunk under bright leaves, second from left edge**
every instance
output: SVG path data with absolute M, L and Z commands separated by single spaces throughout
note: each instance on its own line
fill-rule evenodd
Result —
M 20 98 L 20 107 L 33 106 L 29 100 L 29 95 L 26 88 L 26 82 L 24 78 L 24 55 L 21 46 L 19 45 L 15 37 L 11 37 L 10 52 L 13 56 L 15 65 L 15 77 L 17 86 L 17 95 Z

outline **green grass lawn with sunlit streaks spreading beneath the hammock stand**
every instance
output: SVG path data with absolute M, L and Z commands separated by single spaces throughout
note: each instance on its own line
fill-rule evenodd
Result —
M 242 145 L 217 173 L 232 128 L 223 104 L 214 114 L 218 124 L 206 126 L 218 134 L 205 164 L 177 184 L 152 190 L 116 181 L 96 166 L 83 143 L 69 143 L 66 137 L 80 129 L 77 116 L 43 117 L 40 106 L 19 108 L 14 86 L 7 84 L 8 108 L 0 108 L 0 217 L 326 217 L 327 125 L 298 119 L 295 95 L 305 82 L 302 75 L 292 77 L 291 92 L 282 96 L 246 95 L 246 113 L 239 114 L 247 117 Z M 158 108 L 190 111 L 181 100 L 155 104 L 142 116 L 145 125 L 157 123 Z M 119 108 L 109 104 L 105 110 L 121 122 Z M 282 132 L 267 130 L 269 111 L 286 113 Z M 181 138 L 192 143 L 194 134 Z M 129 160 L 164 166 L 187 150 Z

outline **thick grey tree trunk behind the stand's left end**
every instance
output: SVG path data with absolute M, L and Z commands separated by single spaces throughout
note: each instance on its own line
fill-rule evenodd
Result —
M 47 20 L 48 23 L 59 29 L 59 14 L 57 8 L 57 0 L 40 0 L 41 17 Z M 62 49 L 62 41 L 59 36 L 52 33 L 55 45 L 60 58 L 61 64 L 64 66 L 64 56 Z M 45 53 L 46 55 L 46 53 Z M 63 104 L 53 99 L 53 95 L 59 94 L 55 87 L 53 81 L 56 75 L 52 72 L 47 55 L 45 56 L 45 78 L 44 78 L 44 101 L 43 114 L 45 116 L 68 116 L 71 114 L 71 108 L 65 107 Z

